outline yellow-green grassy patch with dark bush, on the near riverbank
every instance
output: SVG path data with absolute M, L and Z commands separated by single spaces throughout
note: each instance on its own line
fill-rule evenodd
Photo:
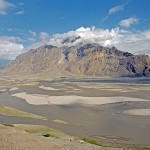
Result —
M 60 138 L 65 136 L 65 133 L 55 130 L 43 125 L 28 125 L 28 124 L 15 124 L 15 127 L 19 129 L 23 129 L 28 133 L 34 133 L 38 134 L 44 137 L 55 137 L 55 138 Z

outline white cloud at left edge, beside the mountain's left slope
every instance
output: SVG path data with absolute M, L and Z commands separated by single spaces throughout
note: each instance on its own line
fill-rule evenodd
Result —
M 23 45 L 18 44 L 18 37 L 0 37 L 0 59 L 15 59 L 23 52 Z

